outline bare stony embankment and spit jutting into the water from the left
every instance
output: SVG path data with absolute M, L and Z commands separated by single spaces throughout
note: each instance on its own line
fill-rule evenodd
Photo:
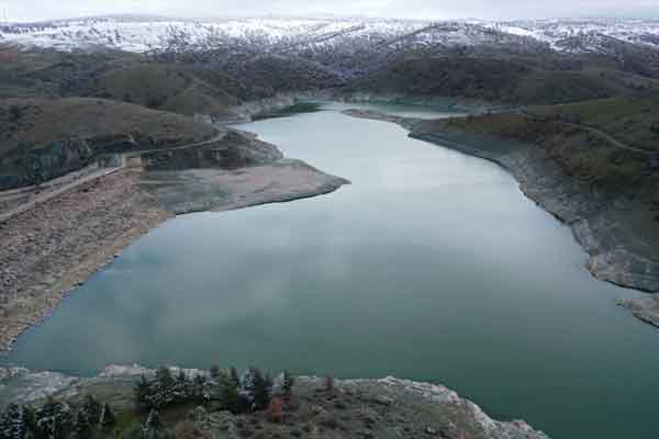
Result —
M 134 240 L 168 218 L 293 201 L 349 181 L 233 133 L 133 157 L 137 167 L 79 184 L 0 222 L 0 352 Z

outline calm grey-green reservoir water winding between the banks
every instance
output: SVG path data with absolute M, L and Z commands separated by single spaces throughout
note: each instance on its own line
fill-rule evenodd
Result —
M 614 305 L 635 293 L 495 165 L 342 108 L 241 128 L 351 185 L 165 223 L 2 361 L 394 374 L 554 438 L 657 437 L 659 334 Z

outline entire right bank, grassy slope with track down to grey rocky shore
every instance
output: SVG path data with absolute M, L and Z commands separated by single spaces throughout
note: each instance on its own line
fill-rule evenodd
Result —
M 400 123 L 412 137 L 500 164 L 527 196 L 572 228 L 596 278 L 656 293 L 658 106 L 649 97 L 438 121 L 350 114 Z M 618 124 L 625 130 L 618 132 Z M 625 304 L 659 326 L 658 302 L 651 296 Z

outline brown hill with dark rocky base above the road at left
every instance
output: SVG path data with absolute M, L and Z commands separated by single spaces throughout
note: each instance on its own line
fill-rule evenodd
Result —
M 0 100 L 0 190 L 52 180 L 99 156 L 202 142 L 209 124 L 103 99 Z

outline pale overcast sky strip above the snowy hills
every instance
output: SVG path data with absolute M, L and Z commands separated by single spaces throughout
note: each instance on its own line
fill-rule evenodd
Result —
M 367 15 L 411 19 L 659 18 L 659 0 L 0 0 L 0 20 L 146 13 L 185 18 Z

